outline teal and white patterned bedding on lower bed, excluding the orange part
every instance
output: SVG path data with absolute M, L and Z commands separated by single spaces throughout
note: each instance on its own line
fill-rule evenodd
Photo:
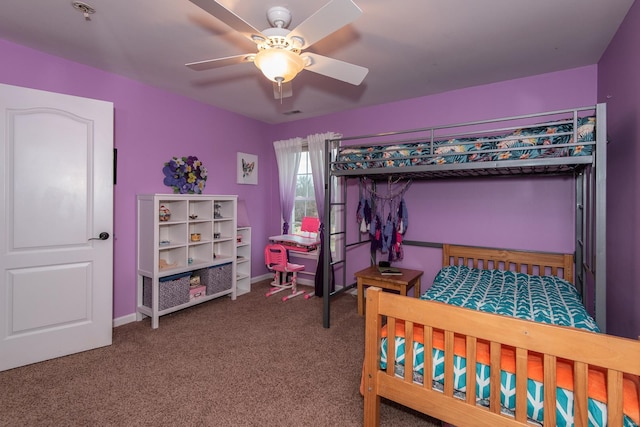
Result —
M 489 313 L 514 316 L 538 322 L 572 326 L 598 332 L 595 321 L 580 303 L 576 289 L 570 283 L 554 276 L 530 276 L 523 273 L 499 270 L 478 270 L 465 266 L 443 268 L 433 286 L 422 299 L 440 301 Z M 404 376 L 404 337 L 395 338 L 397 376 Z M 381 369 L 387 365 L 387 338 L 381 343 Z M 414 342 L 413 379 L 422 384 L 424 374 L 424 348 Z M 442 390 L 444 382 L 444 351 L 434 348 L 433 387 Z M 476 401 L 489 405 L 490 368 L 476 364 Z M 515 411 L 515 374 L 501 371 L 501 404 L 504 413 Z M 530 421 L 542 424 L 543 385 L 535 380 L 527 384 L 527 414 Z M 454 390 L 464 399 L 466 393 L 466 359 L 454 356 Z M 589 425 L 607 425 L 607 408 L 601 402 L 589 399 Z M 558 426 L 573 425 L 573 392 L 557 388 L 556 417 Z M 624 426 L 636 426 L 625 415 Z

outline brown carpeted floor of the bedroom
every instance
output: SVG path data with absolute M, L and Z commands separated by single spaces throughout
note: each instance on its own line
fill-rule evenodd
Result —
M 360 426 L 356 297 L 265 298 L 268 282 L 114 329 L 113 345 L 0 372 L 1 426 Z M 383 401 L 383 426 L 439 426 Z

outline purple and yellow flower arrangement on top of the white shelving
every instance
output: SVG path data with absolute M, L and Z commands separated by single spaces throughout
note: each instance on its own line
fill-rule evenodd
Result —
M 164 185 L 174 193 L 201 194 L 207 181 L 207 168 L 195 156 L 173 157 L 164 164 Z

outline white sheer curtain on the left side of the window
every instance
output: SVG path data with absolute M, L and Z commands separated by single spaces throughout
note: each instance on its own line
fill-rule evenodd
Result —
M 289 218 L 296 197 L 296 178 L 302 153 L 302 138 L 275 141 L 280 183 L 280 210 L 282 211 L 282 234 L 289 234 Z

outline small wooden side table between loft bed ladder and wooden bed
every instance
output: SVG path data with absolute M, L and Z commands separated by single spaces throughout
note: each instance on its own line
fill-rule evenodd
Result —
M 407 290 L 413 287 L 413 296 L 420 298 L 420 277 L 423 272 L 419 270 L 409 270 L 399 268 L 402 274 L 382 275 L 378 267 L 372 265 L 364 270 L 358 271 L 355 276 L 358 283 L 358 314 L 364 315 L 364 287 L 377 286 L 382 289 L 399 291 L 400 295 L 407 295 Z

